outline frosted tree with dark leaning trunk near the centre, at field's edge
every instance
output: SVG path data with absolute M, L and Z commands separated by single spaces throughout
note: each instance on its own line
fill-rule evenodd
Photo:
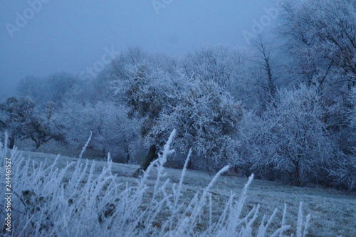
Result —
M 113 82 L 113 92 L 120 102 L 129 108 L 127 115 L 132 119 L 142 120 L 140 135 L 146 138 L 157 124 L 157 118 L 164 107 L 172 107 L 177 95 L 184 92 L 184 81 L 162 68 L 155 68 L 146 63 L 127 65 L 127 78 L 117 78 Z M 115 100 L 117 101 L 117 100 Z M 148 144 L 150 152 L 142 163 L 142 168 L 157 158 L 160 144 Z M 146 165 L 147 164 L 147 165 Z

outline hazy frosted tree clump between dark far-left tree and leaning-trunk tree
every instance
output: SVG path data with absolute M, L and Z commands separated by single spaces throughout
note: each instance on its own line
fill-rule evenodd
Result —
M 139 137 L 136 129 L 140 126 L 139 121 L 128 120 L 125 107 L 112 102 L 68 102 L 58 117 L 60 121 L 65 121 L 62 125 L 75 146 L 83 146 L 91 131 L 90 147 L 102 151 L 103 157 L 108 152 L 125 154 L 125 162 L 130 160 L 132 142 Z

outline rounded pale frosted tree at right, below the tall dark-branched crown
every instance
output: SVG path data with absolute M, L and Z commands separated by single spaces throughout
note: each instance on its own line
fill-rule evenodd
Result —
M 288 177 L 296 185 L 325 180 L 321 170 L 335 153 L 323 114 L 316 88 L 300 85 L 278 91 L 259 125 L 252 169 L 271 169 L 276 177 Z

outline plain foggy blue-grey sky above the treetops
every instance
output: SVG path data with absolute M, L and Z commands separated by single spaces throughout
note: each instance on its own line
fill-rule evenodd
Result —
M 273 0 L 1 0 L 0 98 L 19 79 L 79 74 L 107 51 L 139 46 L 182 55 L 206 44 L 246 46 L 242 31 Z

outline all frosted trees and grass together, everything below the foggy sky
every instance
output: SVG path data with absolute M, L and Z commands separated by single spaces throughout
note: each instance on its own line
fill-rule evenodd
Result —
M 356 1 L 278 8 L 246 48 L 22 78 L 0 101 L 11 235 L 356 236 Z

